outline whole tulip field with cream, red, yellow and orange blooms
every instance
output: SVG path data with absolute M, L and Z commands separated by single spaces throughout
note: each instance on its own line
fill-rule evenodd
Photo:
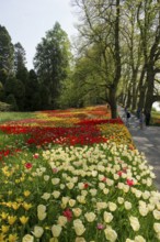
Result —
M 105 106 L 0 130 L 0 242 L 160 241 L 152 167 Z

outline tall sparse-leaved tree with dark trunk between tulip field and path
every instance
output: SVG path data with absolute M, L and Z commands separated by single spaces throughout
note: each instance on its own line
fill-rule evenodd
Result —
M 104 80 L 105 100 L 110 103 L 112 118 L 117 116 L 116 92 L 121 80 L 119 18 L 121 1 L 75 0 L 81 10 L 78 25 L 81 50 L 99 46 L 99 73 Z

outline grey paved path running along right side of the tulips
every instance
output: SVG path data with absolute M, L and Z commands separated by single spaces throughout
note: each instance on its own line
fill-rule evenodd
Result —
M 118 107 L 118 113 L 124 120 L 124 109 Z M 125 120 L 124 120 L 125 121 Z M 138 119 L 132 114 L 128 130 L 139 152 L 144 152 L 149 165 L 156 174 L 155 185 L 160 190 L 160 127 L 145 127 L 139 129 Z

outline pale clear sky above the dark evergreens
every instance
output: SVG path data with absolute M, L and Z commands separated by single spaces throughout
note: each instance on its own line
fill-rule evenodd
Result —
M 71 41 L 77 34 L 71 0 L 0 0 L 0 25 L 5 26 L 12 43 L 26 52 L 26 67 L 33 68 L 36 46 L 57 22 Z

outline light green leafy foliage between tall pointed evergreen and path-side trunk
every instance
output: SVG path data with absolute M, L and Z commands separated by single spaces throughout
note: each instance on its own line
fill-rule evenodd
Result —
M 68 107 L 82 107 L 102 103 L 105 100 L 105 80 L 95 46 L 76 61 L 75 72 L 64 82 L 60 100 Z

